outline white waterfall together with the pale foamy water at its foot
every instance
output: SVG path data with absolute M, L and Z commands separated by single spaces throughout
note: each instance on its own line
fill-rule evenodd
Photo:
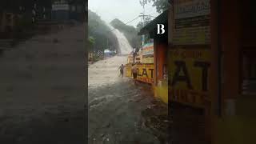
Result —
M 122 34 L 119 30 L 114 29 L 113 26 L 110 26 L 110 29 L 112 30 L 112 33 L 117 37 L 118 48 L 122 56 L 114 56 L 113 58 L 107 58 L 90 65 L 88 70 L 89 89 L 114 84 L 120 80 L 125 79 L 118 77 L 118 67 L 122 64 L 126 64 L 127 57 L 124 55 L 130 54 L 132 47 L 130 46 L 130 43 L 124 34 Z

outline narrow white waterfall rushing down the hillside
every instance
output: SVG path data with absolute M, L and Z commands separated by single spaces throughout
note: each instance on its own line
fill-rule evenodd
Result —
M 108 25 L 110 26 L 110 25 Z M 120 54 L 130 54 L 133 48 L 130 46 L 126 36 L 122 34 L 119 30 L 115 29 L 113 26 L 110 26 L 112 33 L 118 38 L 118 47 Z

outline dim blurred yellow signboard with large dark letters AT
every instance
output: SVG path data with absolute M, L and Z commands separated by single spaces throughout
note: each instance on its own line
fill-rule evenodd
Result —
M 208 97 L 210 51 L 170 50 L 170 100 L 202 107 Z

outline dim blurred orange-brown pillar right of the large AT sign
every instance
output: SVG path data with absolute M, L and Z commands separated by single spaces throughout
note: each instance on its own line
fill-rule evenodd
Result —
M 232 6 L 230 6 L 232 3 Z M 240 48 L 242 34 L 240 31 L 240 5 L 238 0 L 222 1 L 222 49 L 223 49 L 223 112 L 234 115 L 234 100 L 240 93 L 240 70 L 242 59 Z

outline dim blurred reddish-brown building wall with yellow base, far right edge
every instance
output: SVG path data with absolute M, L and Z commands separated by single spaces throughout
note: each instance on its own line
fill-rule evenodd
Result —
M 255 94 L 242 94 L 243 66 L 242 54 L 250 48 L 255 53 L 255 37 L 250 33 L 255 27 L 249 24 L 250 5 L 252 1 L 220 1 L 221 11 L 217 15 L 217 5 L 212 1 L 212 51 L 214 72 L 218 72 L 218 46 L 222 48 L 222 82 L 221 101 L 218 102 L 218 76 L 215 73 L 211 78 L 213 86 L 212 106 L 212 143 L 256 143 L 254 130 L 256 128 Z M 232 3 L 232 6 L 230 6 Z M 252 10 L 252 9 L 251 9 Z M 217 25 L 219 21 L 219 27 Z M 249 23 L 248 23 L 249 22 Z M 219 28 L 219 34 L 217 33 Z M 249 38 L 250 37 L 250 38 Z M 220 38 L 218 45 L 218 38 Z M 254 39 L 254 40 L 253 40 Z M 214 80 L 215 78 L 215 80 Z M 215 112 L 220 106 L 221 114 Z

